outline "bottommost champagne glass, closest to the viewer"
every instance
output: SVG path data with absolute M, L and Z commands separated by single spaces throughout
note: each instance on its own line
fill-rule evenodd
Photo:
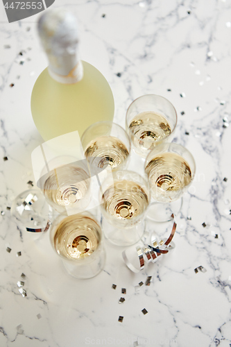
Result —
M 101 226 L 89 212 L 60 214 L 51 224 L 50 240 L 67 272 L 75 278 L 92 278 L 105 265 Z

